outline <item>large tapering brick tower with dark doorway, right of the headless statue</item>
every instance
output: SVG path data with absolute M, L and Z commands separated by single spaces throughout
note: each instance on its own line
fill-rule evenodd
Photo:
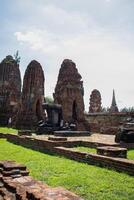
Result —
M 54 101 L 62 105 L 64 122 L 80 123 L 84 119 L 83 82 L 75 63 L 65 59 L 55 87 Z

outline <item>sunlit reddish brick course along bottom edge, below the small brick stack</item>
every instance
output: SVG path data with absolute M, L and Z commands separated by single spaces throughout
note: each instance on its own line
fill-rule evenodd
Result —
M 17 200 L 81 200 L 64 188 L 51 188 L 30 176 L 16 179 L 3 177 L 3 181 L 5 187 L 16 194 Z

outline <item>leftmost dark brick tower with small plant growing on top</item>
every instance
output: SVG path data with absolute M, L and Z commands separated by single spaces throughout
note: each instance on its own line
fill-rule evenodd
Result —
M 19 64 L 9 55 L 0 63 L 0 124 L 7 125 L 9 117 L 14 120 L 20 95 Z

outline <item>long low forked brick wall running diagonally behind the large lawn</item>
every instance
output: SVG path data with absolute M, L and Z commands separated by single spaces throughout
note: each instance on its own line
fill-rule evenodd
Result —
M 5 136 L 5 134 L 3 135 Z M 88 146 L 88 147 L 104 146 L 104 143 L 94 143 L 81 140 L 49 141 L 49 140 L 39 140 L 26 136 L 20 137 L 17 135 L 10 135 L 10 134 L 7 134 L 5 137 L 9 142 L 12 142 L 17 145 L 22 145 L 26 148 L 31 148 L 33 150 L 37 150 L 44 153 L 59 154 L 80 162 L 86 162 L 89 164 L 108 167 L 112 169 L 114 168 L 117 171 L 123 171 L 128 174 L 134 175 L 134 160 L 108 157 L 91 153 L 83 153 L 69 149 L 75 146 Z M 107 146 L 107 144 L 105 144 L 105 146 Z

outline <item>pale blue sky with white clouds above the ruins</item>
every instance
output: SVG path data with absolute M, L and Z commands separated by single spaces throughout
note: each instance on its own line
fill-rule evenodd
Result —
M 109 107 L 134 106 L 133 0 L 0 0 L 0 61 L 19 51 L 22 78 L 31 60 L 42 65 L 52 96 L 64 59 L 82 76 L 85 109 L 93 89 Z

